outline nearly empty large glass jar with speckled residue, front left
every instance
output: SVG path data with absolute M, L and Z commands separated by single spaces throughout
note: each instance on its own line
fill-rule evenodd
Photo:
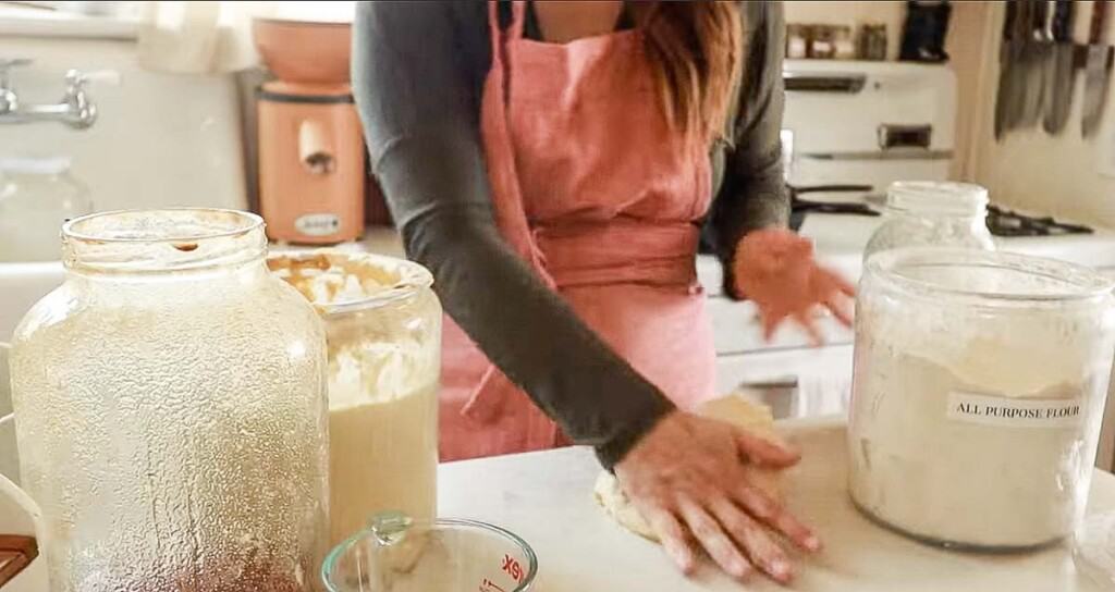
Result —
M 302 592 L 327 551 L 326 336 L 263 223 L 94 214 L 16 329 L 22 483 L 52 592 Z

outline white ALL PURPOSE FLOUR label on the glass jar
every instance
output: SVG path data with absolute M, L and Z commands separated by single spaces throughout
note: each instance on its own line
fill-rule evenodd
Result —
M 1076 427 L 1083 419 L 1082 400 L 1012 399 L 970 392 L 950 392 L 948 417 L 953 421 L 999 427 Z

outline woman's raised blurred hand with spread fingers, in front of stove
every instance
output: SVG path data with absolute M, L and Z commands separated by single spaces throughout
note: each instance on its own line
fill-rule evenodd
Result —
M 787 318 L 793 318 L 821 344 L 824 338 L 813 317 L 825 307 L 852 326 L 849 298 L 855 287 L 832 271 L 817 266 L 813 243 L 783 229 L 755 231 L 739 241 L 735 259 L 736 289 L 759 309 L 767 340 Z

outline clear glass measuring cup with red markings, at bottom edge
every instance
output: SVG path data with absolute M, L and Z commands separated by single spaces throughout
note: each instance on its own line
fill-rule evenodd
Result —
M 510 531 L 467 520 L 378 514 L 321 567 L 329 592 L 527 592 L 537 557 Z

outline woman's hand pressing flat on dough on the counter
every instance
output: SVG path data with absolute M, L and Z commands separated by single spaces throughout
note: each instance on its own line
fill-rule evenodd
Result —
M 805 551 L 821 541 L 749 483 L 744 464 L 785 468 L 798 458 L 724 421 L 673 411 L 615 465 L 615 477 L 685 573 L 696 566 L 696 540 L 734 578 L 758 567 L 785 583 L 793 567 L 769 531 Z

